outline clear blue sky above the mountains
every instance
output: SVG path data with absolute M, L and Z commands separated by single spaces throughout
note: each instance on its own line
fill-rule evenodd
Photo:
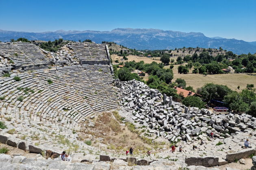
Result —
M 0 29 L 156 28 L 256 41 L 256 0 L 0 0 Z

